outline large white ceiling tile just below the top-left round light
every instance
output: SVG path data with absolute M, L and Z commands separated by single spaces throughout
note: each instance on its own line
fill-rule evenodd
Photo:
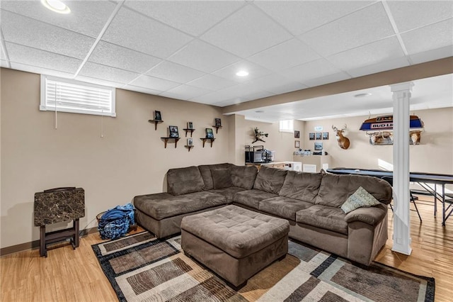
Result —
M 41 50 L 84 59 L 94 43 L 93 38 L 1 10 L 4 40 Z M 37 35 L 39 33 L 39 35 Z

